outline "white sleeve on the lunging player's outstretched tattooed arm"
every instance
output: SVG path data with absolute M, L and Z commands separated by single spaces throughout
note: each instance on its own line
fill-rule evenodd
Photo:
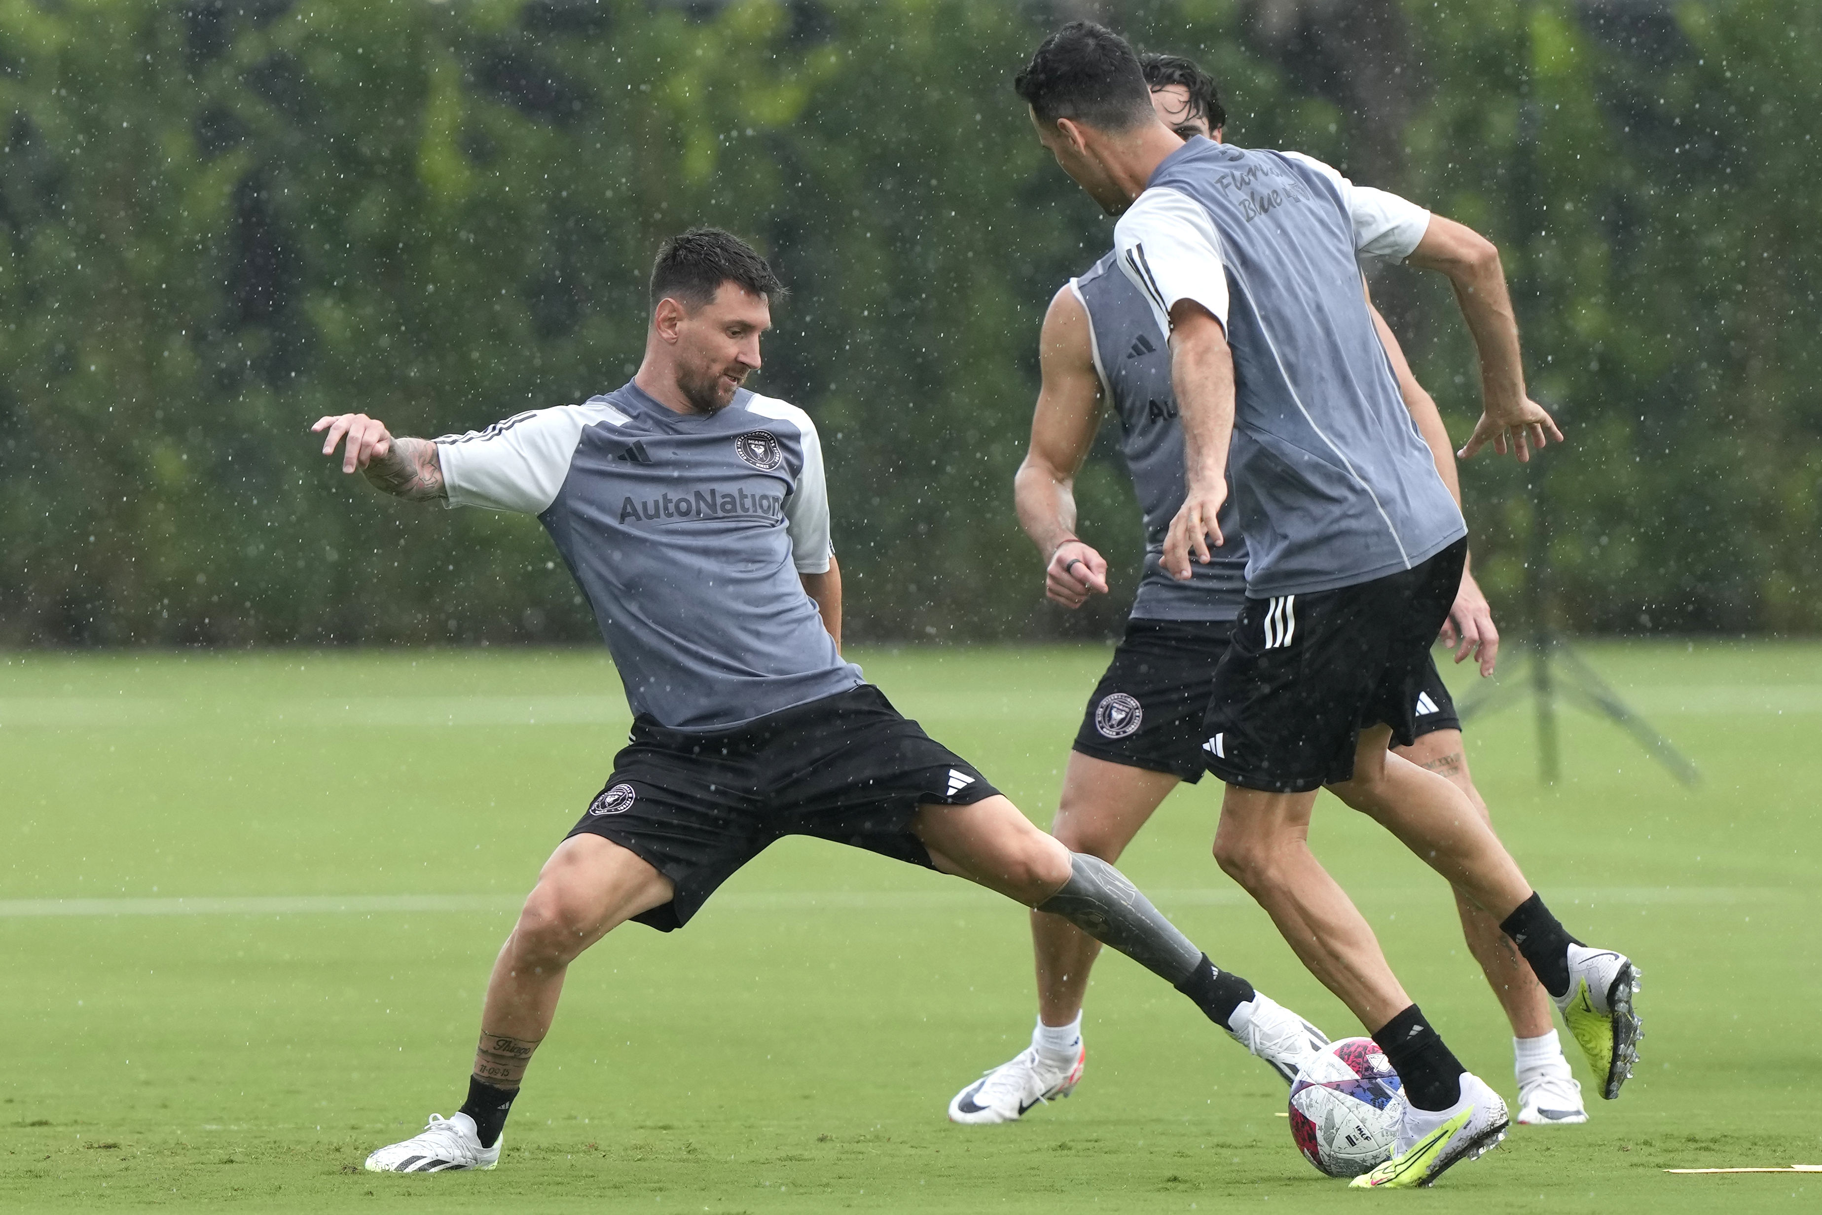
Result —
M 435 441 L 450 506 L 541 514 L 558 499 L 581 432 L 590 423 L 627 423 L 605 401 L 530 410 L 486 430 Z

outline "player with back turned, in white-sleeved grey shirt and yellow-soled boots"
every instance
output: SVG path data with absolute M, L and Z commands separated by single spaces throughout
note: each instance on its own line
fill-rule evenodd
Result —
M 1356 1186 L 1418 1186 L 1507 1129 L 1399 985 L 1308 849 L 1315 792 L 1374 816 L 1512 938 L 1614 1098 L 1636 1060 L 1634 971 L 1576 942 L 1487 820 L 1443 776 L 1388 754 L 1416 741 L 1428 648 L 1461 587 L 1467 525 L 1399 401 L 1359 255 L 1456 284 L 1481 359 L 1487 443 L 1529 459 L 1560 439 L 1525 395 L 1518 330 L 1485 240 L 1363 195 L 1305 157 L 1182 140 L 1117 35 L 1071 22 L 1018 75 L 1039 140 L 1110 215 L 1122 273 L 1170 333 L 1184 501 L 1164 537 L 1177 579 L 1223 541 L 1228 477 L 1246 601 L 1215 667 L 1204 765 L 1226 783 L 1215 860 L 1372 1033 L 1403 1077 L 1392 1160 Z M 1397 200 L 1401 202 L 1401 200 Z M 1232 446 L 1232 455 L 1230 455 Z

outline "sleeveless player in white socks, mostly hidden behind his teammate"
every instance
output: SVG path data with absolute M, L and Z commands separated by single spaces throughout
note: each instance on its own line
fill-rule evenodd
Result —
M 1195 62 L 1142 55 L 1152 104 L 1182 138 L 1221 140 L 1226 111 L 1215 82 Z M 1363 191 L 1365 193 L 1365 191 Z M 1414 226 L 1412 226 L 1414 228 Z M 1405 250 L 1408 251 L 1408 250 Z M 1397 373 L 1399 392 L 1430 448 L 1436 470 L 1459 505 L 1454 448 L 1436 403 L 1418 384 L 1397 339 L 1372 311 Z M 1106 594 L 1106 559 L 1075 536 L 1073 481 L 1100 428 L 1102 410 L 1121 423 L 1121 448 L 1146 525 L 1146 563 L 1126 636 L 1100 678 L 1062 778 L 1051 834 L 1070 849 L 1115 863 L 1179 781 L 1203 776 L 1203 716 L 1210 679 L 1228 648 L 1228 630 L 1246 597 L 1246 545 L 1233 505 L 1221 510 L 1226 536 L 1208 565 L 1179 583 L 1159 568 L 1164 534 L 1182 505 L 1182 430 L 1170 388 L 1170 350 L 1146 297 L 1119 271 L 1113 253 L 1049 302 L 1040 339 L 1042 388 L 1031 419 L 1031 450 L 1018 468 L 1018 519 L 1046 557 L 1046 594 L 1068 608 Z M 1490 672 L 1498 632 L 1472 574 L 1463 568 L 1445 634 L 1459 638 L 1456 661 L 1479 650 Z M 1469 776 L 1461 721 L 1434 659 L 1418 690 L 1416 743 L 1396 747 L 1441 772 L 1487 812 Z M 1469 951 L 1512 1022 L 1518 1120 L 1540 1126 L 1587 1122 L 1581 1086 L 1551 1027 L 1551 1004 L 1530 967 L 1474 902 L 1456 891 Z M 1033 913 L 1039 1016 L 1031 1046 L 971 1082 L 949 1102 L 955 1122 L 1009 1122 L 1037 1098 L 1068 1095 L 1082 1075 L 1082 1000 L 1100 945 L 1066 920 Z

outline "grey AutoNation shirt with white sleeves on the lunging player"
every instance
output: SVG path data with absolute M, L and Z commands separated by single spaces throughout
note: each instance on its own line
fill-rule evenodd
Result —
M 822 443 L 794 404 L 742 388 L 685 415 L 629 383 L 435 443 L 450 506 L 550 532 L 636 714 L 712 730 L 860 685 L 798 581 L 831 548 Z

